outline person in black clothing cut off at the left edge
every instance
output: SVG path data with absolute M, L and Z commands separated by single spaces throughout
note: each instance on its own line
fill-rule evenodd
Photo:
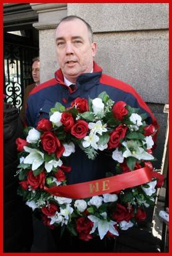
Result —
M 4 252 L 30 252 L 33 242 L 32 210 L 17 195 L 19 180 L 16 176 L 19 159 L 16 139 L 22 137 L 23 126 L 18 110 L 4 102 L 3 106 L 3 199 L 4 199 Z

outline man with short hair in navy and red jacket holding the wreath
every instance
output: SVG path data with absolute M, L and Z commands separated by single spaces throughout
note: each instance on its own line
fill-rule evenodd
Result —
M 37 122 L 43 117 L 48 119 L 50 108 L 56 102 L 68 107 L 76 97 L 94 99 L 102 91 L 106 91 L 115 102 L 125 101 L 130 106 L 147 112 L 148 121 L 157 126 L 155 117 L 137 92 L 128 84 L 102 74 L 101 67 L 93 61 L 97 44 L 93 41 L 92 29 L 86 21 L 76 16 L 65 17 L 58 24 L 55 40 L 60 69 L 55 72 L 55 78 L 30 93 L 26 114 L 29 126 L 37 126 Z M 71 84 L 74 85 L 73 89 Z M 71 154 L 69 164 L 71 172 L 66 174 L 68 184 L 101 179 L 114 168 L 114 161 L 103 152 L 95 160 L 90 160 L 79 148 Z M 95 242 L 91 239 L 83 242 L 73 239 L 66 248 L 63 242 L 58 241 L 58 235 L 56 237 L 58 252 L 107 252 L 104 241 Z M 63 240 L 65 243 L 66 239 Z

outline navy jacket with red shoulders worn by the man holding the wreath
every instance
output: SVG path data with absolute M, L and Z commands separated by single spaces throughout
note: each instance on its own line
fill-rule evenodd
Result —
M 140 108 L 140 113 L 148 114 L 148 122 L 158 127 L 155 117 L 132 86 L 125 82 L 102 74 L 101 67 L 94 62 L 93 73 L 81 74 L 76 80 L 75 90 L 65 85 L 64 77 L 59 69 L 55 72 L 55 78 L 35 87 L 30 92 L 27 101 L 26 119 L 28 126 L 37 126 L 42 118 L 49 119 L 49 112 L 56 102 L 65 107 L 70 107 L 76 97 L 84 99 L 96 98 L 101 92 L 106 91 L 112 101 L 124 101 L 131 107 Z M 95 160 L 90 160 L 83 150 L 76 148 L 74 154 L 68 157 L 68 164 L 71 165 L 71 172 L 66 174 L 68 184 L 86 182 L 105 177 L 106 172 L 114 168 L 112 157 L 100 152 Z

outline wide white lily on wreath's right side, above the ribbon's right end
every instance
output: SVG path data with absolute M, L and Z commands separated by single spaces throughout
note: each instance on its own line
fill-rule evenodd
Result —
M 153 155 L 148 154 L 148 152 L 146 152 L 142 147 L 139 147 L 139 146 L 131 147 L 131 150 L 130 150 L 128 145 L 132 144 L 132 142 L 134 142 L 134 140 L 133 141 L 129 140 L 129 142 L 125 142 L 125 141 L 122 142 L 122 145 L 124 145 L 125 148 L 126 148 L 126 150 L 123 153 L 123 157 L 125 157 L 125 158 L 135 157 L 138 160 L 152 160 L 152 159 L 154 159 Z

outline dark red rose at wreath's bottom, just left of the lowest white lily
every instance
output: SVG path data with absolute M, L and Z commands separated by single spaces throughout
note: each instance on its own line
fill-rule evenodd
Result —
M 88 241 L 92 239 L 92 235 L 89 234 L 93 228 L 93 222 L 88 218 L 81 217 L 76 220 L 76 230 L 79 233 L 79 239 Z

